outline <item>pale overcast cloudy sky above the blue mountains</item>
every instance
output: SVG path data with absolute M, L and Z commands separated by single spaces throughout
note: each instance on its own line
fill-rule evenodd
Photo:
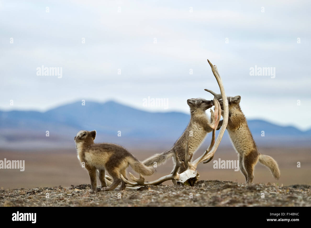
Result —
M 209 59 L 248 119 L 310 128 L 310 5 L 0 0 L 0 109 L 113 99 L 188 113 L 187 99 L 219 92 Z M 38 76 L 42 65 L 62 67 L 62 78 Z M 255 65 L 275 68 L 275 77 L 251 76 Z M 167 99 L 167 109 L 143 106 L 148 96 Z

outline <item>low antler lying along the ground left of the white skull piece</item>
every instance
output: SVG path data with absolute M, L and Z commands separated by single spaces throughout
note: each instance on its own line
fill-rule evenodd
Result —
M 183 162 L 180 162 L 177 156 L 177 151 L 175 151 L 175 160 L 176 160 L 176 164 L 175 164 L 175 168 L 173 170 L 173 172 L 170 175 L 164 176 L 164 177 L 160 177 L 158 180 L 156 181 L 151 181 L 151 182 L 144 182 L 145 178 L 142 176 L 142 174 L 139 174 L 139 178 L 136 178 L 133 176 L 132 173 L 129 172 L 129 175 L 131 177 L 131 179 L 133 181 L 136 182 L 130 182 L 127 179 L 125 179 L 122 174 L 121 174 L 121 179 L 122 181 L 124 181 L 127 185 L 126 186 L 147 186 L 147 185 L 160 185 L 161 183 L 163 183 L 164 181 L 169 181 L 169 180 L 179 180 L 179 173 L 178 173 L 178 169 L 179 168 L 184 168 L 185 169 L 185 164 Z

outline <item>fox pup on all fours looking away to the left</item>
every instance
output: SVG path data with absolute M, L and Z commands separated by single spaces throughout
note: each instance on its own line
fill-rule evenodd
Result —
M 122 174 L 126 178 L 126 168 L 131 165 L 132 169 L 142 175 L 150 176 L 155 170 L 146 167 L 138 161 L 130 152 L 122 146 L 111 143 L 94 143 L 96 131 L 80 131 L 74 137 L 77 154 L 81 163 L 85 162 L 85 168 L 89 172 L 91 179 L 91 193 L 97 191 L 96 169 L 99 171 L 100 188 L 104 191 L 114 190 L 120 183 L 118 190 L 125 188 L 125 183 L 121 180 Z M 107 187 L 105 171 L 113 178 L 113 183 Z

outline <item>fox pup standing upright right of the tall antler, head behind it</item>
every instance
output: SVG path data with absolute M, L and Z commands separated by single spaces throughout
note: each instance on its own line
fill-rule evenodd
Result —
M 206 91 L 211 92 L 216 99 L 219 99 L 219 94 L 215 94 L 210 90 Z M 276 161 L 272 157 L 261 154 L 258 151 L 252 133 L 248 128 L 246 118 L 239 105 L 241 96 L 228 97 L 227 99 L 229 105 L 227 131 L 234 149 L 239 154 L 239 168 L 245 177 L 246 183 L 253 182 L 253 170 L 258 161 L 270 169 L 274 178 L 279 179 L 281 173 Z M 219 100 L 219 103 L 223 110 L 222 99 Z M 222 124 L 222 120 L 219 124 Z

